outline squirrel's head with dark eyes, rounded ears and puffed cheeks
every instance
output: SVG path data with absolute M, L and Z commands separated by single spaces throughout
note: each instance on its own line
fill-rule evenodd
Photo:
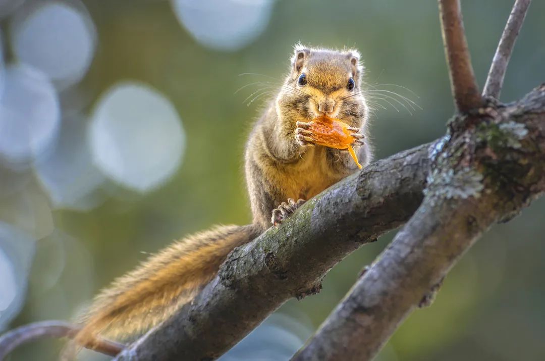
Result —
M 281 117 L 322 115 L 361 124 L 367 104 L 361 91 L 363 67 L 357 50 L 336 51 L 295 45 L 292 68 L 276 99 Z

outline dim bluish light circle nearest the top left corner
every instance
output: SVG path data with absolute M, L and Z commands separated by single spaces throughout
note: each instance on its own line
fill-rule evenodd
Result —
M 40 69 L 64 88 L 86 74 L 96 30 L 81 2 L 50 1 L 16 16 L 11 43 L 20 62 Z M 76 8 L 77 7 L 77 8 Z

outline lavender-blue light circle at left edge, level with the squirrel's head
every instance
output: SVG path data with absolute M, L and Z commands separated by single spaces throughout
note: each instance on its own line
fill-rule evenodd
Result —
M 47 76 L 27 65 L 10 65 L 0 97 L 0 156 L 27 161 L 43 153 L 55 139 L 60 109 Z

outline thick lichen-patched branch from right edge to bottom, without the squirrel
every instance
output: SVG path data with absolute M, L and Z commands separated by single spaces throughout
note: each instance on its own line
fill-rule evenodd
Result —
M 452 135 L 419 209 L 293 360 L 372 359 L 484 231 L 545 192 L 545 86 L 490 115 Z

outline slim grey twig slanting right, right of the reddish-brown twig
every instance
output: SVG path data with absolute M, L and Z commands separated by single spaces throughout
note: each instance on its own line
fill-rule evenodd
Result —
M 492 59 L 492 65 L 488 71 L 488 77 L 485 83 L 485 89 L 482 92 L 483 97 L 500 97 L 501 87 L 504 83 L 505 70 L 511 58 L 515 41 L 524 23 L 524 18 L 528 12 L 531 0 L 516 0 L 511 10 L 511 15 L 507 20 L 503 34 L 501 34 L 498 49 Z

